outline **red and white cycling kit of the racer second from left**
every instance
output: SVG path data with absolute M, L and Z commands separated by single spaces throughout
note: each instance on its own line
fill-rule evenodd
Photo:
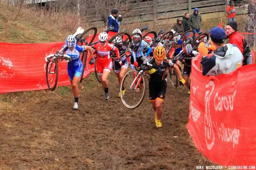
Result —
M 97 50 L 97 72 L 99 75 L 102 75 L 103 71 L 110 72 L 113 66 L 112 59 L 110 58 L 110 52 L 114 51 L 117 59 L 119 59 L 119 51 L 114 45 L 106 43 L 104 46 L 100 45 L 100 42 L 94 46 Z

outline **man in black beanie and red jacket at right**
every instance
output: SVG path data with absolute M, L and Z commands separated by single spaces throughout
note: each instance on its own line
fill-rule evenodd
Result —
M 230 39 L 230 44 L 235 44 L 243 54 L 243 65 L 252 64 L 251 50 L 247 46 L 247 42 L 243 35 L 238 32 L 236 21 L 226 24 L 226 35 Z

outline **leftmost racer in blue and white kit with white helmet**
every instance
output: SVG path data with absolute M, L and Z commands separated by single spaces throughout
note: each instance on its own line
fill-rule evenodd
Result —
M 78 109 L 78 98 L 79 98 L 79 88 L 78 82 L 84 71 L 84 66 L 82 61 L 80 60 L 80 52 L 89 51 L 90 55 L 93 56 L 92 47 L 90 46 L 79 46 L 76 44 L 75 36 L 69 35 L 66 38 L 65 45 L 62 46 L 62 49 L 66 46 L 63 51 L 60 51 L 60 54 L 66 52 L 66 55 L 70 56 L 71 62 L 68 62 L 68 74 L 69 80 L 72 84 L 72 90 L 75 97 L 75 103 L 73 109 Z

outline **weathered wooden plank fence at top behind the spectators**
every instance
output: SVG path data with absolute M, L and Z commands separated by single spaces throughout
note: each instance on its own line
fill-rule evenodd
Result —
M 226 16 L 226 3 L 227 0 L 149 0 L 121 5 L 118 9 L 123 16 L 122 25 L 150 21 L 161 25 L 176 23 L 177 18 L 184 13 L 191 15 L 196 7 L 203 19 Z M 243 8 L 237 8 L 236 13 L 244 13 Z M 106 25 L 95 9 L 91 9 L 86 17 L 92 25 Z

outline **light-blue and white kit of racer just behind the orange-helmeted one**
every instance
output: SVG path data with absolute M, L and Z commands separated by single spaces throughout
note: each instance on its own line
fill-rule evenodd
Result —
M 139 42 L 135 43 L 135 45 L 137 45 Z M 143 49 L 144 47 L 146 47 L 148 49 L 148 52 L 145 54 L 143 54 Z M 134 65 L 133 63 L 135 61 L 138 62 L 139 65 L 142 64 L 142 57 L 148 57 L 149 54 L 151 53 L 152 49 L 151 47 L 148 45 L 147 42 L 145 42 L 143 39 L 141 41 L 141 45 L 139 46 L 138 50 L 136 50 L 135 52 L 131 51 L 131 58 L 130 58 L 130 63 L 131 63 L 131 69 L 134 69 Z

